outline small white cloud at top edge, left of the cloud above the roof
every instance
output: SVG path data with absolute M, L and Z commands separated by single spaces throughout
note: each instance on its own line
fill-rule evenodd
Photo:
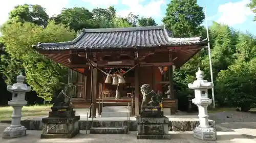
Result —
M 118 4 L 118 0 L 82 0 L 83 2 L 90 3 L 91 5 L 99 8 L 108 8 Z

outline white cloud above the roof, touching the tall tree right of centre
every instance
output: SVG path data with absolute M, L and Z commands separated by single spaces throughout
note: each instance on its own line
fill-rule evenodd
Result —
M 161 5 L 165 4 L 163 0 L 151 0 L 147 4 L 141 4 L 145 0 L 121 0 L 121 4 L 127 6 L 127 9 L 117 11 L 120 16 L 127 16 L 130 12 L 144 17 L 159 17 L 161 15 Z

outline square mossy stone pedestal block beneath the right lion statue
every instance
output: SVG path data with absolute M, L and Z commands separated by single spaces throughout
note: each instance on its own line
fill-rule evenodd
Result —
M 138 116 L 136 120 L 138 124 L 137 139 L 170 139 L 167 117 Z

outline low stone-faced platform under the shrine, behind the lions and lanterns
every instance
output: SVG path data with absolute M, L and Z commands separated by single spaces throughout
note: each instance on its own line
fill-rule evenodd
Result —
M 94 119 L 88 119 L 87 126 L 87 116 L 80 115 L 80 130 L 90 130 L 92 127 L 123 127 L 127 126 L 127 117 L 108 117 L 101 118 L 97 117 Z M 197 116 L 166 116 L 169 119 L 169 131 L 193 131 L 197 126 L 199 126 L 199 119 Z M 27 130 L 42 130 L 42 118 L 38 117 L 28 120 L 21 121 L 21 124 L 27 128 Z M 93 121 L 92 121 L 93 120 Z M 2 121 L 2 123 L 11 123 L 11 121 Z M 215 128 L 215 121 L 209 120 L 209 125 Z M 129 131 L 137 131 L 137 123 L 135 117 L 130 117 L 129 121 Z

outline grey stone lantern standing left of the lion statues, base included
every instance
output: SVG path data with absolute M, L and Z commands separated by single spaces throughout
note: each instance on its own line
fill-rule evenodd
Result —
M 12 86 L 8 85 L 7 90 L 12 92 L 12 100 L 8 101 L 8 105 L 13 107 L 12 124 L 3 131 L 3 138 L 14 138 L 26 135 L 26 128 L 20 125 L 22 118 L 22 107 L 27 104 L 25 100 L 26 92 L 30 92 L 31 88 L 24 84 L 25 77 L 20 74 L 17 76 L 17 83 Z

